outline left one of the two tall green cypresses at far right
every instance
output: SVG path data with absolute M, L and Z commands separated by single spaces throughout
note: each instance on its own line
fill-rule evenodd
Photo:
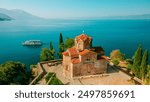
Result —
M 142 46 L 140 45 L 134 54 L 132 72 L 136 77 L 140 77 L 140 65 L 142 60 Z

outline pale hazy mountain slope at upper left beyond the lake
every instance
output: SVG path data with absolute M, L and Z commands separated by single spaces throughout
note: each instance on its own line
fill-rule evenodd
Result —
M 8 15 L 9 17 L 15 20 L 41 20 L 43 19 L 43 18 L 34 16 L 30 13 L 27 13 L 19 9 L 7 10 L 7 9 L 0 8 L 0 13 Z

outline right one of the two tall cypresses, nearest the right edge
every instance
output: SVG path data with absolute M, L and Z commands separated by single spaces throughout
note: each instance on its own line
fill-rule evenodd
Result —
M 148 71 L 148 50 L 145 50 L 143 54 L 140 70 L 141 70 L 140 78 L 145 79 Z

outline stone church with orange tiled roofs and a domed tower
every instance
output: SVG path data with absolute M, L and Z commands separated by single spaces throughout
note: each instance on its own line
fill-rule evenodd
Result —
M 75 37 L 75 45 L 63 52 L 63 74 L 72 79 L 79 76 L 107 72 L 107 59 L 101 47 L 92 47 L 92 38 L 86 34 Z

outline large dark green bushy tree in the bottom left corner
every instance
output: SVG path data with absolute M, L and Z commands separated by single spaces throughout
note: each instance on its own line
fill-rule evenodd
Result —
M 0 84 L 28 84 L 28 74 L 25 65 L 12 61 L 1 64 Z

